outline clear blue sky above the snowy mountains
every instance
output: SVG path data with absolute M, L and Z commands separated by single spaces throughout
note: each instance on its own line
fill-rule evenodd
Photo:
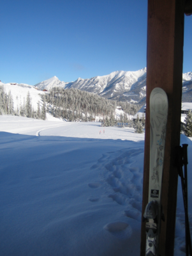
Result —
M 192 71 L 192 16 L 184 72 Z M 147 0 L 1 1 L 0 79 L 36 84 L 146 67 Z

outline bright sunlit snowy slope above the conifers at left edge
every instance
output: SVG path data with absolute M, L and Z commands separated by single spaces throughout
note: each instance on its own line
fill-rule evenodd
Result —
M 41 103 L 41 96 L 44 92 L 36 90 L 34 86 L 28 84 L 17 84 L 17 83 L 0 83 L 0 86 L 4 86 L 5 92 L 8 94 L 11 92 L 13 97 L 14 109 L 17 109 L 20 105 L 24 104 L 24 100 L 26 102 L 27 93 L 30 93 L 32 107 L 34 110 L 38 108 L 38 102 Z

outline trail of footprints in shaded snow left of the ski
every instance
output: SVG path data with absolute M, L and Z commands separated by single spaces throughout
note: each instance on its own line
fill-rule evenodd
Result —
M 117 152 L 103 154 L 98 163 L 91 170 L 98 171 L 99 182 L 89 183 L 91 189 L 101 186 L 108 198 L 112 198 L 119 205 L 124 205 L 124 215 L 136 221 L 141 220 L 142 212 L 142 179 L 143 172 L 137 161 L 142 159 L 138 155 L 144 154 L 143 148 L 123 149 Z M 91 196 L 90 202 L 98 202 L 100 197 Z M 131 227 L 123 221 L 115 221 L 105 225 L 105 230 L 119 239 L 131 236 Z

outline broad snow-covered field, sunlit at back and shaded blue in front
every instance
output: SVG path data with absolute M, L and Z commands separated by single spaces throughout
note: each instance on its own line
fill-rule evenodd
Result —
M 0 116 L 0 254 L 140 255 L 144 134 Z M 189 144 L 189 221 L 192 142 Z M 175 255 L 185 255 L 179 180 Z

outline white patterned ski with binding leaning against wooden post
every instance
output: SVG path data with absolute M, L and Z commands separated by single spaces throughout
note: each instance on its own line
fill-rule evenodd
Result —
M 161 183 L 165 152 L 168 98 L 161 88 L 154 88 L 150 95 L 150 166 L 149 196 L 145 207 L 146 256 L 159 256 L 158 244 L 163 212 L 161 207 Z

